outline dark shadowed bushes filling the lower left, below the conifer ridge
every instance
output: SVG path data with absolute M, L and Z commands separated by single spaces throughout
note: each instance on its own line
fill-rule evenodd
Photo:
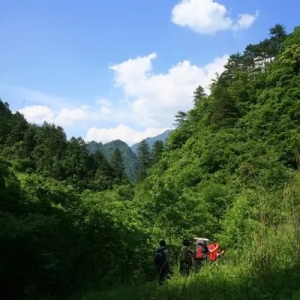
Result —
M 95 202 L 96 195 L 83 200 L 54 179 L 37 174 L 17 179 L 2 160 L 0 169 L 0 279 L 14 288 L 3 293 L 20 299 L 24 294 L 66 296 L 96 277 L 104 284 L 112 278 L 124 283 L 141 274 L 147 253 L 139 245 L 143 234 L 121 222 L 126 212 L 118 218 L 111 213 L 116 210 L 113 203 L 106 205 L 108 194 Z M 120 187 L 118 193 L 124 197 L 130 190 Z

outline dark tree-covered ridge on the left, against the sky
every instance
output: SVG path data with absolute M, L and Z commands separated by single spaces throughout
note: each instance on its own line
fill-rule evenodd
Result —
M 53 124 L 27 123 L 20 113 L 12 114 L 8 104 L 0 101 L 1 120 L 5 121 L 0 139 L 0 154 L 16 170 L 38 173 L 72 185 L 77 191 L 112 188 L 120 174 L 105 157 L 89 154 L 82 138 L 66 139 L 63 129 Z

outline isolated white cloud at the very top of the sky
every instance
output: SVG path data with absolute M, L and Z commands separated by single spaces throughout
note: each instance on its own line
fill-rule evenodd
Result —
M 172 22 L 189 27 L 197 33 L 215 34 L 222 30 L 249 28 L 258 17 L 254 14 L 239 14 L 238 19 L 230 17 L 227 8 L 214 0 L 181 0 L 172 9 Z

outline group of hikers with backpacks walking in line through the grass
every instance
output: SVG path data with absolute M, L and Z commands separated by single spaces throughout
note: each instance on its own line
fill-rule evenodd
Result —
M 183 276 L 190 274 L 190 271 L 198 272 L 206 260 L 212 262 L 220 258 L 224 251 L 219 251 L 219 243 L 208 244 L 208 239 L 194 238 L 195 247 L 190 247 L 190 241 L 184 240 L 179 254 L 179 271 Z M 159 284 L 172 274 L 170 263 L 170 252 L 166 242 L 161 240 L 153 257 L 153 264 L 156 268 Z

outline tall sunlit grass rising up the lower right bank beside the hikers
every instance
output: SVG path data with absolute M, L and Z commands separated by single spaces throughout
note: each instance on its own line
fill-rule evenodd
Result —
M 300 181 L 298 181 L 300 182 Z M 257 232 L 243 249 L 229 249 L 226 258 L 207 263 L 198 274 L 156 282 L 90 291 L 80 300 L 234 300 L 300 299 L 300 210 L 298 184 L 284 191 L 285 217 L 266 226 L 262 214 Z M 261 205 L 264 205 L 263 203 Z

